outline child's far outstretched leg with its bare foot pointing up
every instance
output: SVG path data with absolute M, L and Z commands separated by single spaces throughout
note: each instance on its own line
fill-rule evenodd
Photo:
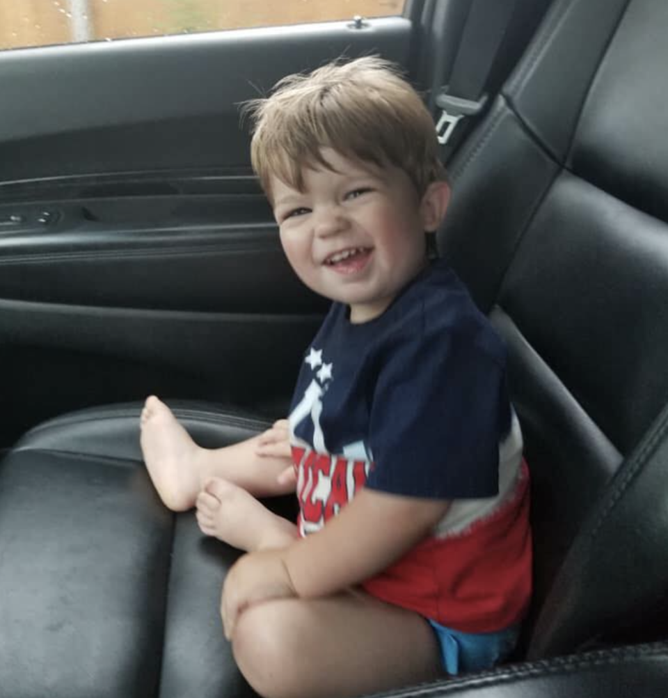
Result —
M 175 512 L 193 507 L 211 477 L 223 477 L 258 497 L 294 491 L 294 485 L 286 487 L 277 480 L 290 460 L 259 456 L 259 436 L 225 448 L 202 448 L 155 396 L 146 401 L 141 429 L 142 454 L 151 480 L 163 503 Z

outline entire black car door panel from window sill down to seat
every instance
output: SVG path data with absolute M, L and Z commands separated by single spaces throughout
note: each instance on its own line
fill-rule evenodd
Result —
M 406 64 L 411 26 L 0 53 L 0 445 L 152 392 L 285 413 L 326 304 L 283 257 L 239 103 L 343 54 Z

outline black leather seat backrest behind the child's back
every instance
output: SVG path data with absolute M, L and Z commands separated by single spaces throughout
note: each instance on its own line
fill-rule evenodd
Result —
M 556 0 L 450 168 L 441 251 L 510 352 L 528 655 L 668 637 L 668 3 Z

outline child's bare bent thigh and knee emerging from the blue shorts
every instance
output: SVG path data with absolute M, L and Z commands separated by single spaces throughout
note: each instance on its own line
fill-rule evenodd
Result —
M 445 675 L 424 618 L 357 591 L 251 606 L 232 649 L 265 698 L 345 698 Z

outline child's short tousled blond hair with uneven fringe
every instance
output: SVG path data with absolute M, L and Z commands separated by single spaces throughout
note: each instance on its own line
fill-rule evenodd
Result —
M 243 113 L 253 124 L 251 164 L 269 199 L 272 176 L 303 191 L 302 168 L 331 170 L 322 148 L 378 167 L 394 165 L 420 196 L 445 179 L 429 111 L 399 69 L 378 57 L 283 77 L 268 98 L 245 103 Z

